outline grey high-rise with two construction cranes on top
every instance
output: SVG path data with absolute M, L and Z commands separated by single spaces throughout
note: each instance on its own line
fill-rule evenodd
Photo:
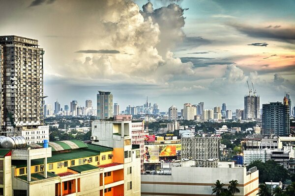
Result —
M 244 97 L 244 119 L 260 119 L 260 97 L 248 95 Z

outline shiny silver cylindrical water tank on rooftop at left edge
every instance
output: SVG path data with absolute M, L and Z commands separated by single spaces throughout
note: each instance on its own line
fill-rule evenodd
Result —
M 26 139 L 23 136 L 5 137 L 0 141 L 1 148 L 16 149 L 25 148 L 27 146 Z

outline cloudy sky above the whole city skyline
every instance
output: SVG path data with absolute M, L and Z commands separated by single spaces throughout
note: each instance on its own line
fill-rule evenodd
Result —
M 295 103 L 294 0 L 1 0 L 0 35 L 39 40 L 46 103 L 110 91 L 120 110 Z M 254 90 L 252 90 L 254 92 Z

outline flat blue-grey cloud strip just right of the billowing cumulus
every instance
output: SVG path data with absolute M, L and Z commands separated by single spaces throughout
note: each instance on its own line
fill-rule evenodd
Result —
M 207 67 L 210 65 L 230 65 L 236 64 L 230 62 L 227 59 L 215 59 L 215 58 L 206 58 L 206 57 L 181 57 L 182 63 L 192 62 L 194 67 Z

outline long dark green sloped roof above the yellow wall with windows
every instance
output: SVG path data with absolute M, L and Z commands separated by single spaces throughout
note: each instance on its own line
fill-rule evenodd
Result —
M 98 155 L 99 155 L 99 152 L 87 150 L 85 148 L 74 149 L 69 152 L 53 152 L 52 157 L 47 158 L 47 163 L 55 163 L 55 162 L 61 162 L 61 161 L 67 161 L 67 160 L 73 160 L 73 159 L 79 159 L 79 158 L 85 158 L 85 157 L 98 156 Z M 43 159 L 31 160 L 31 166 L 42 165 L 42 164 L 43 164 Z M 16 166 L 17 168 L 23 168 L 23 167 L 27 167 L 27 161 L 12 160 L 11 165 Z

